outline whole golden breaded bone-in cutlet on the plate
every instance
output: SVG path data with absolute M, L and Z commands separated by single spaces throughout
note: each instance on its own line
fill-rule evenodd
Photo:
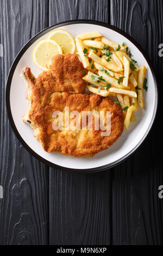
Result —
M 34 129 L 34 136 L 48 153 L 83 157 L 108 149 L 123 131 L 120 105 L 108 97 L 82 94 L 85 92 L 85 82 L 82 79 L 85 69 L 74 54 L 54 56 L 50 68 L 38 78 L 34 77 L 30 68 L 22 70 L 21 76 L 26 80 L 29 100 L 27 112 L 23 116 L 24 123 Z M 110 135 L 101 136 L 102 131 L 95 131 L 94 125 L 92 130 L 53 130 L 53 113 L 64 113 L 65 107 L 69 107 L 70 112 L 78 111 L 80 114 L 82 111 L 111 111 Z

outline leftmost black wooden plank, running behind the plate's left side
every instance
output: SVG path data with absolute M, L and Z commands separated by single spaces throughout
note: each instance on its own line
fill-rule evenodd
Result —
M 1 61 L 1 245 L 48 243 L 48 167 L 32 157 L 17 141 L 5 107 L 5 82 L 18 51 L 48 26 L 48 1 L 0 2 Z

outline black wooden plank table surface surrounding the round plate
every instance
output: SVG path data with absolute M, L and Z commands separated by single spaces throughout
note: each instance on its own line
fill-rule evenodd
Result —
M 163 1 L 1 0 L 1 245 L 163 244 L 162 100 L 145 143 L 117 167 L 65 173 L 36 160 L 18 142 L 5 107 L 5 82 L 18 51 L 42 29 L 89 19 L 127 32 L 151 58 L 162 91 Z

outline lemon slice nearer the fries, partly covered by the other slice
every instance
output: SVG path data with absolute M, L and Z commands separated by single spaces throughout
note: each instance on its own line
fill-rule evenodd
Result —
M 62 48 L 63 53 L 74 53 L 76 50 L 72 35 L 64 30 L 54 30 L 48 35 L 48 39 L 54 40 Z

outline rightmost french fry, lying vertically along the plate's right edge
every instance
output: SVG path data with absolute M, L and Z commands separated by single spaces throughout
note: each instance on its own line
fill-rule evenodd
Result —
M 146 76 L 146 67 L 141 66 L 138 74 L 138 83 L 137 83 L 138 103 L 141 108 L 145 108 L 145 102 L 143 97 L 143 83 L 145 81 L 145 76 Z

